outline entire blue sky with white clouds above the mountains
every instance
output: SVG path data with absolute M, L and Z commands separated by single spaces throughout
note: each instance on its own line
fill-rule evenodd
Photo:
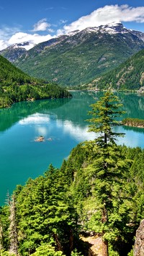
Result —
M 0 50 L 111 22 L 144 32 L 143 0 L 1 0 Z

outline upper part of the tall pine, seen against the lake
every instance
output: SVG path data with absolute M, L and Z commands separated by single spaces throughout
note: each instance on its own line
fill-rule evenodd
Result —
M 120 117 L 124 112 L 120 110 L 122 105 L 117 96 L 110 91 L 104 94 L 99 101 L 91 105 L 92 110 L 89 112 L 92 118 L 88 121 L 89 131 L 99 133 L 96 138 L 96 144 L 100 148 L 106 147 L 107 144 L 114 144 L 118 136 L 123 136 L 122 133 L 114 133 L 112 127 L 122 125 L 116 118 Z

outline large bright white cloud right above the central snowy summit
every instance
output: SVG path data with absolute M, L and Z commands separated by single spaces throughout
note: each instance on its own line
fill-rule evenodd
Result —
M 79 18 L 70 25 L 65 25 L 63 30 L 58 30 L 58 35 L 73 30 L 84 30 L 86 27 L 106 25 L 111 22 L 144 22 L 144 6 L 106 5 L 89 15 Z

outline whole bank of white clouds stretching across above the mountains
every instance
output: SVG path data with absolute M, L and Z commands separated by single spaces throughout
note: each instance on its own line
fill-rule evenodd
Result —
M 53 9 L 53 7 L 50 7 Z M 56 25 L 50 25 L 47 19 L 40 19 L 34 25 L 34 29 L 30 33 L 22 32 L 22 27 L 1 27 L 0 28 L 0 50 L 14 43 L 23 43 L 28 41 L 33 44 L 41 43 L 46 40 L 50 40 L 52 37 L 58 35 L 67 34 L 73 30 L 84 30 L 86 27 L 97 27 L 99 25 L 106 25 L 111 22 L 144 22 L 144 6 L 131 7 L 127 4 L 118 6 L 106 5 L 102 8 L 96 9 L 91 14 L 83 16 L 72 22 L 70 25 L 64 25 L 67 21 L 61 19 L 59 26 L 63 25 L 62 29 L 53 30 L 52 27 Z M 49 32 L 56 35 L 39 35 L 38 32 Z M 37 32 L 32 34 L 32 32 Z

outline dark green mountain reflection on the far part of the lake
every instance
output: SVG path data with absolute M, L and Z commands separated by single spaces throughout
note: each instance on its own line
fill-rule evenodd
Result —
M 102 97 L 102 92 L 72 92 L 71 99 L 37 100 L 35 102 L 19 102 L 9 109 L 0 110 L 0 131 L 10 128 L 28 115 L 36 112 L 56 115 L 59 120 L 69 120 L 78 125 L 86 125 L 89 119 L 89 105 Z M 117 93 L 126 111 L 122 118 L 144 119 L 144 97 L 137 94 Z M 134 129 L 134 128 L 132 128 Z

